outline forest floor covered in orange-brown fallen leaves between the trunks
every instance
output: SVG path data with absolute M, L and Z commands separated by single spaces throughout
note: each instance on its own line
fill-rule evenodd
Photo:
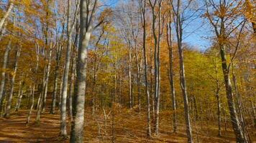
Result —
M 49 104 L 50 105 L 50 104 Z M 104 110 L 105 111 L 105 110 Z M 85 142 L 187 142 L 185 126 L 179 123 L 178 132 L 173 133 L 171 125 L 171 114 L 161 112 L 160 134 L 150 139 L 146 138 L 146 117 L 145 112 L 140 114 L 135 110 L 116 108 L 114 124 L 110 109 L 91 114 L 91 109 L 86 109 L 85 119 Z M 35 124 L 35 111 L 32 113 L 31 122 L 26 124 L 28 110 L 12 112 L 9 119 L 0 118 L 0 142 L 68 142 L 61 139 L 60 114 L 49 114 L 49 109 L 42 113 L 40 124 Z M 68 119 L 68 133 L 70 132 L 70 120 Z M 217 137 L 216 124 L 204 123 L 201 129 L 201 122 L 193 125 L 193 139 L 195 142 L 235 142 L 234 134 L 230 127 L 222 131 L 222 137 Z M 211 124 L 211 125 L 210 125 Z M 112 136 L 112 125 L 114 125 L 114 138 Z M 252 142 L 256 142 L 256 131 L 250 130 Z

